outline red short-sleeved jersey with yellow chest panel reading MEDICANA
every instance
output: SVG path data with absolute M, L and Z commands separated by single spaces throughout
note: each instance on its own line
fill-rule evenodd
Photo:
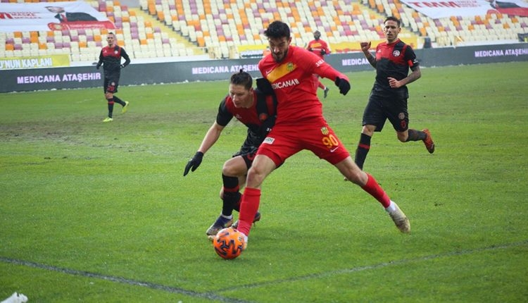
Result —
M 297 125 L 299 120 L 322 118 L 322 104 L 317 96 L 318 79 L 313 74 L 332 81 L 337 77 L 348 81 L 346 75 L 302 47 L 289 46 L 281 63 L 273 56 L 266 56 L 258 63 L 258 69 L 270 81 L 277 96 L 275 125 Z

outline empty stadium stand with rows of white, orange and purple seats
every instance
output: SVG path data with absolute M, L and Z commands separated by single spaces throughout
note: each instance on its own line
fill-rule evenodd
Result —
M 41 0 L 1 0 L 31 2 Z M 401 18 L 402 39 L 421 47 L 517 41 L 528 34 L 528 17 L 501 13 L 432 19 L 400 0 L 139 0 L 138 8 L 118 0 L 87 1 L 106 14 L 118 43 L 132 58 L 238 58 L 241 49 L 265 49 L 263 31 L 273 20 L 291 26 L 293 44 L 304 46 L 319 30 L 335 52 L 357 50 L 360 41 L 383 39 L 386 16 Z M 106 29 L 2 32 L 0 57 L 68 54 L 72 62 L 93 62 L 106 45 Z

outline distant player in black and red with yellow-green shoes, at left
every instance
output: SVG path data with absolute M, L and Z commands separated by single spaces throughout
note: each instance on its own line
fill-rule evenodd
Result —
M 121 104 L 122 113 L 126 113 L 128 109 L 128 101 L 122 101 L 114 94 L 118 92 L 121 68 L 130 64 L 130 58 L 125 49 L 115 43 L 115 35 L 113 32 L 108 32 L 106 42 L 108 42 L 108 46 L 101 49 L 96 68 L 99 69 L 102 65 L 104 70 L 103 90 L 104 97 L 108 101 L 108 117 L 103 122 L 111 122 L 113 121 L 112 113 L 114 102 Z M 125 63 L 121 64 L 121 58 L 125 59 Z

